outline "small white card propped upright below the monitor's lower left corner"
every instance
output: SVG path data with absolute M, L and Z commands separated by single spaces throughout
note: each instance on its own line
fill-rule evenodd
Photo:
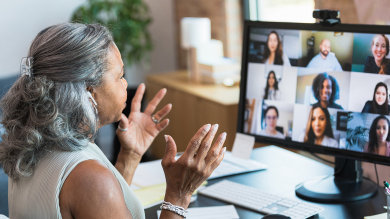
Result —
M 233 156 L 249 159 L 253 145 L 254 136 L 236 132 L 231 153 Z

